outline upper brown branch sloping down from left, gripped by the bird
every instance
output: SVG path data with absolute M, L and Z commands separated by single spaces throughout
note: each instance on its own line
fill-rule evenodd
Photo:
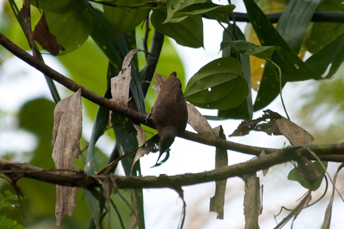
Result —
M 64 85 L 64 87 L 68 88 L 69 90 L 76 92 L 79 88 L 81 88 L 81 95 L 85 99 L 88 99 L 89 101 L 94 102 L 98 104 L 99 106 L 102 106 L 112 112 L 116 112 L 127 118 L 130 118 L 134 122 L 141 123 L 155 129 L 155 124 L 152 119 L 150 119 L 146 124 L 146 120 L 145 120 L 146 116 L 144 114 L 134 111 L 128 107 L 117 105 L 114 102 L 104 98 L 103 96 L 100 96 L 94 93 L 93 91 L 90 91 L 87 88 L 84 88 L 82 85 L 74 82 L 73 80 L 63 76 L 61 73 L 50 68 L 49 66 L 44 64 L 44 62 L 42 62 L 41 60 L 36 59 L 33 56 L 31 56 L 29 53 L 27 53 L 26 51 L 24 51 L 23 49 L 15 45 L 13 42 L 11 42 L 2 33 L 0 33 L 0 44 L 4 48 L 9 50 L 13 55 L 19 57 L 20 59 L 25 61 L 27 64 L 41 71 L 42 73 L 44 73 L 46 76 L 50 77 L 51 79 L 57 81 L 58 83 L 61 83 L 62 85 Z M 202 143 L 205 145 L 209 145 L 209 146 L 222 147 L 228 150 L 233 150 L 233 151 L 256 155 L 256 156 L 258 156 L 262 151 L 265 151 L 265 153 L 267 154 L 272 153 L 272 152 L 283 151 L 282 149 L 247 146 L 247 145 L 239 144 L 236 142 L 227 141 L 224 139 L 211 138 L 208 135 L 195 134 L 186 130 L 181 135 L 179 135 L 179 137 L 182 137 L 187 140 L 195 141 L 198 143 Z M 341 157 L 342 155 L 341 156 L 336 155 L 338 153 L 343 153 L 343 149 L 341 147 L 340 149 L 338 149 L 337 144 L 310 145 L 307 147 L 310 148 L 315 153 L 317 153 L 318 155 L 327 154 L 327 158 L 331 159 L 331 161 L 341 161 L 341 162 L 344 161 L 343 157 Z M 332 157 L 330 157 L 330 155 L 332 155 Z

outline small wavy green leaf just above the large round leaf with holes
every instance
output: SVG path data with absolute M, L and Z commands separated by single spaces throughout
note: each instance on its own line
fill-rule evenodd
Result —
M 265 59 L 271 56 L 273 50 L 275 50 L 275 46 L 262 46 L 253 44 L 247 41 L 229 41 L 229 42 L 221 42 L 220 50 L 231 46 L 239 53 L 244 55 L 253 55 L 260 59 Z

